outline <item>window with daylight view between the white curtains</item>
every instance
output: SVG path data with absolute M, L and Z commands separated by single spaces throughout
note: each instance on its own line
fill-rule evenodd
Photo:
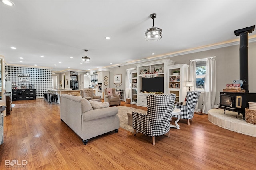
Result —
M 196 90 L 204 91 L 204 79 L 206 72 L 206 60 L 196 62 Z

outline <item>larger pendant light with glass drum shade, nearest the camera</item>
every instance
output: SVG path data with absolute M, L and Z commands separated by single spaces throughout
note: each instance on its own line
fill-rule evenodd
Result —
M 145 37 L 147 41 L 158 41 L 162 38 L 162 29 L 154 27 L 154 18 L 156 18 L 156 14 L 153 13 L 150 15 L 150 18 L 153 19 L 153 27 L 149 28 L 145 32 Z

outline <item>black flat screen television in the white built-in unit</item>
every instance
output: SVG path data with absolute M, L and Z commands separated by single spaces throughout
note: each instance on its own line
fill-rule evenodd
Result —
M 142 92 L 164 92 L 164 77 L 142 78 Z

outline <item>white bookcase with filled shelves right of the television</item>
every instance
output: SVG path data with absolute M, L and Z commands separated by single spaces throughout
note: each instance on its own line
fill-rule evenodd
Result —
M 168 66 L 168 94 L 176 94 L 176 102 L 185 100 L 186 92 L 188 91 L 188 87 L 185 86 L 186 81 L 188 81 L 188 67 L 189 65 L 187 64 Z

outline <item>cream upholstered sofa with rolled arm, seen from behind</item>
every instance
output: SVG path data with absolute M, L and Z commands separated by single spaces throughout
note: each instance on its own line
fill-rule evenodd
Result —
M 117 107 L 92 109 L 90 102 L 82 97 L 68 94 L 62 94 L 60 97 L 60 119 L 82 138 L 85 145 L 92 137 L 113 130 L 117 133 L 117 113 Z

